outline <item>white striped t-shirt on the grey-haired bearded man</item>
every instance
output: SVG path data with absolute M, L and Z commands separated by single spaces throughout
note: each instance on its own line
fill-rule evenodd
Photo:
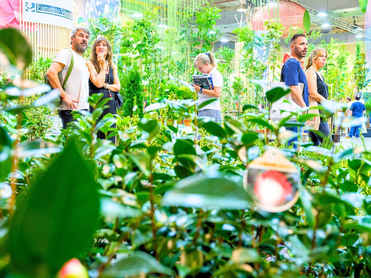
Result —
M 73 53 L 73 68 L 66 83 L 66 95 L 71 99 L 77 100 L 77 109 L 89 109 L 88 96 L 89 96 L 89 70 L 85 64 L 85 60 L 81 55 L 70 49 Z M 62 49 L 59 51 L 53 62 L 59 62 L 65 67 L 58 73 L 60 85 L 66 78 L 68 68 L 71 62 L 71 51 L 69 49 Z M 67 104 L 62 100 L 60 102 L 59 110 L 67 110 Z M 71 106 L 68 110 L 72 109 Z

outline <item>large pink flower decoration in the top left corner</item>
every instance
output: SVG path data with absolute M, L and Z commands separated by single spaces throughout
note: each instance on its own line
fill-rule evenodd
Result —
M 0 0 L 0 28 L 19 26 L 19 0 Z

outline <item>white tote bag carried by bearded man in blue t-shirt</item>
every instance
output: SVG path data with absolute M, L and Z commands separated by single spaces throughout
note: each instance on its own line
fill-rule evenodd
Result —
M 271 82 L 271 85 L 273 87 L 284 87 L 285 82 Z M 304 90 L 304 84 L 299 83 L 299 89 L 301 92 Z M 284 100 L 286 100 L 284 102 Z M 300 109 L 300 106 L 296 104 L 292 100 L 291 94 L 288 93 L 285 96 L 281 97 L 279 100 L 277 100 L 274 103 L 270 104 L 270 118 L 272 120 L 282 120 L 283 118 L 286 118 L 290 115 L 290 112 L 297 112 L 298 109 Z M 281 110 L 285 110 L 285 112 L 281 112 Z

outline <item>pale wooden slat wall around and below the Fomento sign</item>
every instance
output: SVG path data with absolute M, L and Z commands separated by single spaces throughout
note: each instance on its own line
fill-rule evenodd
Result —
M 76 3 L 73 0 L 68 0 L 74 4 L 74 26 L 77 23 Z M 25 22 L 22 18 L 22 0 L 19 0 L 20 5 L 20 31 L 26 34 L 33 49 L 33 60 L 37 61 L 40 57 L 54 58 L 60 49 L 70 47 L 71 29 L 56 26 L 53 24 Z

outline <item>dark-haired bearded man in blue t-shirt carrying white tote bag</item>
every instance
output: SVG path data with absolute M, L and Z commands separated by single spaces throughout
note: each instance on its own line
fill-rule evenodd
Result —
M 295 34 L 290 39 L 290 58 L 284 64 L 281 72 L 281 81 L 285 82 L 286 86 L 291 89 L 292 100 L 300 107 L 309 106 L 309 89 L 306 81 L 305 73 L 301 67 L 301 59 L 306 56 L 308 50 L 308 42 L 305 34 Z M 304 90 L 301 91 L 299 83 L 304 84 Z M 298 126 L 285 126 L 286 130 L 298 132 Z M 302 128 L 299 129 L 301 136 Z M 288 140 L 287 145 L 293 144 L 296 147 L 298 138 Z

